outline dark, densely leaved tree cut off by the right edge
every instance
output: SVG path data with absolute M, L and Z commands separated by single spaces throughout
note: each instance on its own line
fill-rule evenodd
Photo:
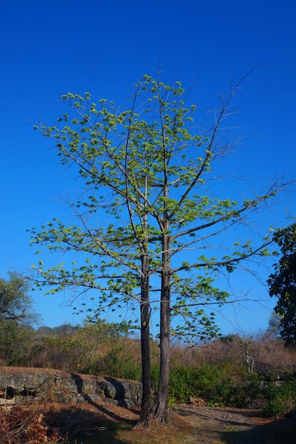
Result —
M 285 345 L 296 344 L 296 223 L 279 228 L 273 236 L 280 247 L 280 260 L 268 278 L 270 297 L 277 297 L 275 313 L 280 316 L 280 335 Z

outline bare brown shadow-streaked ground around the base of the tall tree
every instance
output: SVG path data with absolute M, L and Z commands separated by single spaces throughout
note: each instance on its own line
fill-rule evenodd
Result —
M 172 444 L 295 444 L 296 438 L 295 419 L 266 418 L 260 410 L 176 406 L 170 423 L 152 423 L 149 431 L 133 430 L 138 409 L 124 409 L 104 400 L 55 404 L 45 410 L 52 425 L 72 436 L 75 433 L 71 442 L 79 444 L 141 444 L 147 439 Z

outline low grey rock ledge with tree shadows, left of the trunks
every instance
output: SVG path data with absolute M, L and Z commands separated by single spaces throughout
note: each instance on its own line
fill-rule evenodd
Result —
M 138 382 L 60 370 L 0 367 L 0 406 L 35 402 L 95 402 L 102 398 L 119 406 L 141 404 Z

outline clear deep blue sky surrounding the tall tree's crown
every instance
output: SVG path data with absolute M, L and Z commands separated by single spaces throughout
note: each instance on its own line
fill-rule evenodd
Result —
M 229 168 L 258 184 L 295 169 L 296 4 L 293 0 L 126 0 L 26 2 L 1 5 L 0 275 L 23 271 L 36 261 L 27 228 L 66 213 L 57 197 L 75 193 L 70 172 L 58 164 L 50 140 L 33 131 L 41 120 L 55 123 L 59 99 L 68 91 L 121 104 L 143 74 L 160 67 L 185 87 L 198 79 L 191 100 L 201 108 L 219 105 L 234 78 L 263 63 L 234 99 L 240 135 L 251 135 Z M 258 135 L 255 135 L 258 133 Z M 285 209 L 295 213 L 295 187 L 273 209 L 275 226 Z M 293 192 L 294 191 L 294 192 Z M 228 196 L 227 196 L 228 197 Z M 265 279 L 268 273 L 262 270 Z M 270 309 L 266 289 L 234 282 L 238 292 L 267 299 L 235 316 L 226 309 L 223 331 L 264 329 Z M 62 309 L 62 296 L 34 294 L 43 324 L 81 319 Z M 229 323 L 229 320 L 231 323 Z

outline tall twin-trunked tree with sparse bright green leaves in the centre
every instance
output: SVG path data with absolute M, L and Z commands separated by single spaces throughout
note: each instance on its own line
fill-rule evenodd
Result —
M 243 225 L 247 230 L 246 216 L 282 186 L 274 182 L 264 193 L 241 201 L 219 196 L 221 177 L 214 175 L 213 164 L 233 146 L 230 130 L 221 123 L 242 81 L 222 99 L 214 125 L 206 130 L 193 125 L 196 106 L 185 105 L 180 82 L 165 84 L 148 75 L 136 84 L 129 109 L 106 99 L 94 103 L 89 93 L 68 93 L 62 101 L 70 114 L 58 119 L 63 126 L 35 126 L 55 140 L 62 165 L 77 168 L 84 190 L 82 199 L 68 202 L 74 225 L 54 219 L 41 231 L 31 231 L 32 245 L 72 257 L 80 252 L 78 263 L 47 268 L 40 260 L 35 282 L 50 285 L 49 293 L 97 290 L 97 296 L 91 293 L 97 313 L 122 311 L 124 305 L 133 311 L 138 304 L 141 423 L 148 422 L 149 414 L 160 421 L 168 417 L 171 337 L 217 335 L 209 307 L 221 306 L 229 296 L 216 286 L 217 274 L 228 277 L 242 260 L 262 260 L 267 254 L 269 238 L 257 239 L 253 246 L 250 238 L 241 242 L 229 235 L 229 245 L 214 246 L 231 228 Z M 215 180 L 216 196 L 211 186 Z M 160 379 L 150 410 L 155 306 L 160 313 Z

